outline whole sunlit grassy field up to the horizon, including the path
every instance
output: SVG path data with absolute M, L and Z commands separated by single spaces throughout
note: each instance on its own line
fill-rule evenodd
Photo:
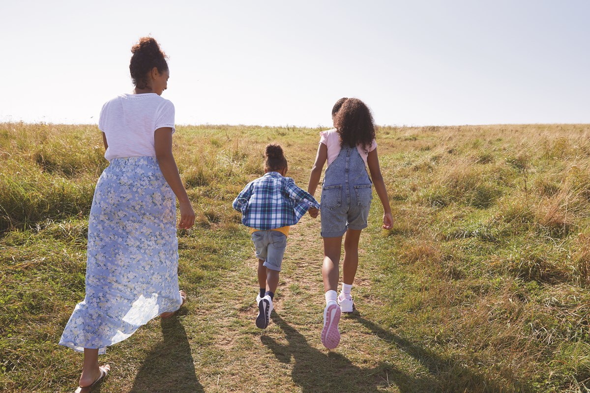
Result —
M 271 141 L 306 188 L 319 131 L 177 128 L 197 214 L 178 232 L 188 302 L 101 356 L 97 392 L 590 392 L 590 125 L 379 128 L 395 224 L 381 229 L 375 197 L 335 351 L 319 339 L 319 221 L 293 227 L 260 331 L 231 209 Z M 57 343 L 84 298 L 103 154 L 95 126 L 0 124 L 2 392 L 77 385 L 81 355 Z

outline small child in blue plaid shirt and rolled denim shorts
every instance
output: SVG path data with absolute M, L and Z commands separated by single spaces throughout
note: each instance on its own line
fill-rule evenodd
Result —
M 256 326 L 260 329 L 266 329 L 273 311 L 289 227 L 299 222 L 310 207 L 320 207 L 313 196 L 285 177 L 287 159 L 280 146 L 269 144 L 264 157 L 264 176 L 248 183 L 233 203 L 234 209 L 242 213 L 242 223 L 250 227 L 256 248 L 260 285 Z

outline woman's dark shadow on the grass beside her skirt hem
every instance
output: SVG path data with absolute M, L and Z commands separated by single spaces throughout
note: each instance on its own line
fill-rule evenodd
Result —
M 162 319 L 163 342 L 156 344 L 137 372 L 131 393 L 204 392 L 186 331 L 178 317 Z

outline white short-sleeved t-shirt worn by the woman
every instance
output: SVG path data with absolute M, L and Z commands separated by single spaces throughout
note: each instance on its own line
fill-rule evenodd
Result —
M 174 105 L 156 93 L 120 94 L 103 105 L 99 129 L 109 147 L 104 158 L 155 157 L 153 134 L 174 127 Z

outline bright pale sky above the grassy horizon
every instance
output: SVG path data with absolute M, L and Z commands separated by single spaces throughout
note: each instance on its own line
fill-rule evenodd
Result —
M 0 121 L 97 123 L 150 34 L 177 124 L 590 123 L 587 0 L 0 1 Z

